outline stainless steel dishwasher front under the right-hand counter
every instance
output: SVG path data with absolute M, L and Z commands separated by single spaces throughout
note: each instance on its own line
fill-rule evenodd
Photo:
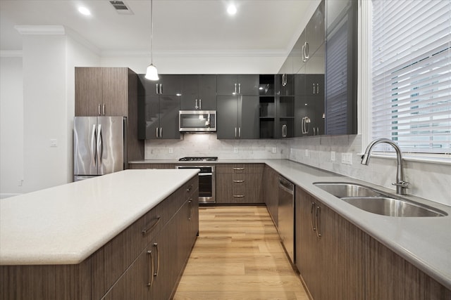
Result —
M 278 230 L 283 247 L 295 263 L 295 185 L 279 176 Z

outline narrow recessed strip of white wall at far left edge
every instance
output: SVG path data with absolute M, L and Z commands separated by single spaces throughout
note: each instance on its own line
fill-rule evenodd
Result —
M 0 58 L 0 193 L 23 193 L 22 57 Z M 0 194 L 1 195 L 1 194 Z

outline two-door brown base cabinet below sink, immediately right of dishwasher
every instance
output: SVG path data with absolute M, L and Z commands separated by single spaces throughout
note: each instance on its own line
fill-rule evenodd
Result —
M 296 188 L 296 266 L 313 299 L 364 299 L 364 233 Z

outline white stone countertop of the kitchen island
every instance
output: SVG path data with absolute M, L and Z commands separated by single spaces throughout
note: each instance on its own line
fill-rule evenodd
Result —
M 0 265 L 87 259 L 197 169 L 125 170 L 0 200 Z

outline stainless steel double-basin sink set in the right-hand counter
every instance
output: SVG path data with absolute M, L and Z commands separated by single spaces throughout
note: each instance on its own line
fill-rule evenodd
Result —
M 340 198 L 354 207 L 383 216 L 447 216 L 445 211 L 426 204 L 406 200 L 395 195 L 383 193 L 357 183 L 314 183 L 330 195 Z

